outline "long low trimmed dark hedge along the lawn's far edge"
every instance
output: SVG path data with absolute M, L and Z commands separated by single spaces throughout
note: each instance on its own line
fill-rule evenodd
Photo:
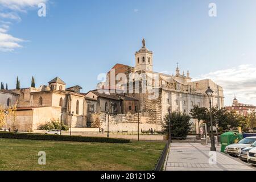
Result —
M 98 142 L 98 143 L 129 143 L 129 139 L 105 138 L 105 137 L 80 137 L 68 135 L 43 135 L 28 133 L 6 133 L 0 132 L 0 138 L 26 139 L 26 140 L 54 140 L 66 142 Z

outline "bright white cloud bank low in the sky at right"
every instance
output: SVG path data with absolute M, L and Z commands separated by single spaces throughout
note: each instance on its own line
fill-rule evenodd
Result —
M 210 78 L 222 86 L 225 95 L 225 105 L 230 105 L 234 95 L 245 104 L 256 105 L 256 67 L 243 64 L 238 67 L 210 72 L 195 80 Z

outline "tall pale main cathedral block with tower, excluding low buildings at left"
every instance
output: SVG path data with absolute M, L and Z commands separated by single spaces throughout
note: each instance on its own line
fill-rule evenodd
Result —
M 209 99 L 205 94 L 208 86 L 214 91 L 213 106 L 224 107 L 223 89 L 212 80 L 192 81 L 189 71 L 186 74 L 180 73 L 178 66 L 175 75 L 154 72 L 153 52 L 146 48 L 144 39 L 142 48 L 135 52 L 134 60 L 135 67 L 114 65 L 107 74 L 106 82 L 99 83 L 98 89 L 104 87 L 120 89 L 127 95 L 137 98 L 144 121 L 154 125 L 158 130 L 162 126 L 165 115 L 168 114 L 168 108 L 171 111 L 187 114 L 195 105 L 209 108 Z M 143 86 L 146 86 L 144 91 Z M 195 123 L 196 130 L 197 122 L 193 119 L 191 122 Z

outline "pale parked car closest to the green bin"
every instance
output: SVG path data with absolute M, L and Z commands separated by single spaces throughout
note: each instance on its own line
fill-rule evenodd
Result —
M 238 151 L 243 150 L 246 147 L 250 147 L 256 141 L 256 137 L 246 137 L 240 140 L 238 143 L 230 144 L 226 146 L 225 151 L 231 156 L 238 156 Z

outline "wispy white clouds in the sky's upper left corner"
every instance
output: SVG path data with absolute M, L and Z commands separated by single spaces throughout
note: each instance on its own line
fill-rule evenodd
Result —
M 47 2 L 48 0 L 0 0 L 0 51 L 10 52 L 22 48 L 20 43 L 24 40 L 8 34 L 11 22 L 21 20 L 18 14 L 26 13 L 28 9 L 38 7 L 39 3 Z

